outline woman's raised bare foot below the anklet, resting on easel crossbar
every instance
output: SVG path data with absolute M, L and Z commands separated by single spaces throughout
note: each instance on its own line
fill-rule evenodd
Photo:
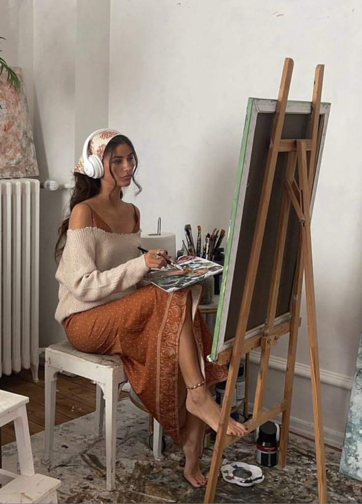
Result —
M 197 416 L 203 422 L 207 423 L 215 432 L 219 427 L 221 408 L 213 400 L 209 390 L 204 387 L 188 390 L 186 398 L 186 409 Z M 248 431 L 248 427 L 229 418 L 227 425 L 227 434 L 243 436 Z

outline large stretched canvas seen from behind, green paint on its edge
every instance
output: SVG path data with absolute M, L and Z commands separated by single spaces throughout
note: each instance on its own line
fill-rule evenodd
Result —
M 248 101 L 232 201 L 213 346 L 210 355 L 210 360 L 212 361 L 217 360 L 217 356 L 223 350 L 232 348 L 234 343 L 276 105 L 276 100 L 249 98 Z M 317 189 L 329 111 L 330 103 L 321 103 L 320 138 L 313 183 L 312 207 Z M 310 115 L 311 102 L 288 101 L 285 109 L 282 138 L 308 138 Z M 246 339 L 260 334 L 264 330 L 269 285 L 273 268 L 273 255 L 270 251 L 275 249 L 287 158 L 288 152 L 281 152 L 277 159 Z M 298 248 L 298 231 L 298 217 L 294 212 L 290 212 L 275 325 L 290 320 L 291 292 Z

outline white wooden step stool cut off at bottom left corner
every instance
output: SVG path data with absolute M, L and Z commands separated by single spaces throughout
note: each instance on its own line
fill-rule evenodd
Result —
M 56 503 L 58 479 L 34 473 L 26 404 L 29 398 L 0 391 L 0 427 L 14 422 L 20 474 L 0 469 L 0 502 Z

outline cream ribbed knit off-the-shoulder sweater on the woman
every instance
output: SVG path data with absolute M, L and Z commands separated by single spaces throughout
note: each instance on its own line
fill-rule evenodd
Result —
M 140 231 L 118 234 L 97 227 L 69 229 L 55 274 L 59 282 L 55 320 L 62 323 L 73 313 L 133 292 L 148 272 L 137 248 L 140 236 Z

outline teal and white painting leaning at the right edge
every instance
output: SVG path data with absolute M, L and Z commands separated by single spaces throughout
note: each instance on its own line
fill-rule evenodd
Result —
M 362 481 L 362 335 L 359 340 L 339 470 L 346 476 Z

